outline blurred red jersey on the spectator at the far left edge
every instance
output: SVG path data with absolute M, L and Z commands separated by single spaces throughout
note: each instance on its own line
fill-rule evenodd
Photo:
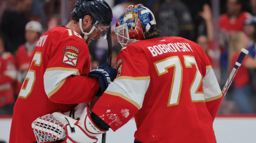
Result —
M 16 61 L 12 54 L 0 54 L 0 107 L 14 103 L 14 82 L 17 76 Z

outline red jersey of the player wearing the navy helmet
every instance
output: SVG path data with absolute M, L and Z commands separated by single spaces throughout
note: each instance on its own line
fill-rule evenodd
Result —
M 55 111 L 91 101 L 99 81 L 90 72 L 89 50 L 75 31 L 55 27 L 41 35 L 14 106 L 9 142 L 36 142 L 31 123 Z

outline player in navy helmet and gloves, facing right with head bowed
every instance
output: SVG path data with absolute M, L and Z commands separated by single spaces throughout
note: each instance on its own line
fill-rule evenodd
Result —
M 112 10 L 103 0 L 79 0 L 65 27 L 42 34 L 15 103 L 9 142 L 36 142 L 31 123 L 48 113 L 67 112 L 101 95 L 116 77 L 103 64 L 91 77 L 88 44 L 106 36 Z M 87 44 L 87 45 L 86 45 Z M 101 88 L 99 88 L 101 86 Z

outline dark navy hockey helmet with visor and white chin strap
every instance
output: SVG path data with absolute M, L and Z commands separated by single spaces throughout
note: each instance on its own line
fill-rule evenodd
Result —
M 110 6 L 104 0 L 79 0 L 76 2 L 73 11 L 71 12 L 73 16 L 80 20 L 80 29 L 82 30 L 82 20 L 85 15 L 90 15 L 93 20 L 93 29 L 89 33 L 84 33 L 86 35 L 90 34 L 94 28 L 98 27 L 99 23 L 106 26 L 106 30 L 101 32 L 101 36 L 106 38 L 107 28 L 110 27 L 112 23 L 112 10 Z

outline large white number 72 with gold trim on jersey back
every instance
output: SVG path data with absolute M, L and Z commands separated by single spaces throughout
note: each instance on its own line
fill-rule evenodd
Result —
M 202 75 L 198 70 L 197 63 L 194 56 L 184 56 L 184 64 L 186 68 L 192 68 L 192 64 L 196 67 L 196 73 L 194 80 L 190 86 L 190 95 L 192 102 L 205 102 L 204 92 L 198 92 L 198 89 L 202 83 Z M 171 91 L 169 94 L 169 101 L 167 106 L 179 105 L 181 89 L 182 89 L 182 77 L 183 67 L 182 62 L 178 56 L 172 56 L 163 60 L 154 62 L 154 67 L 158 72 L 158 75 L 168 73 L 168 68 L 174 67 L 173 79 L 171 84 Z

